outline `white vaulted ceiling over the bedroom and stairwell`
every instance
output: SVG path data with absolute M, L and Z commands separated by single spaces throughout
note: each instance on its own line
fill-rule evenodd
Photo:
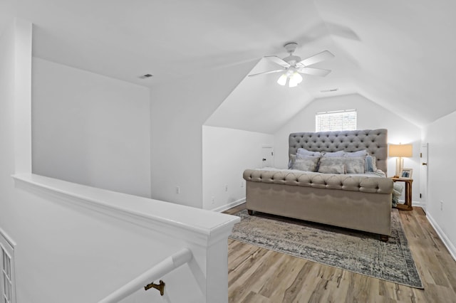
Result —
M 251 60 L 261 71 L 262 56 L 284 57 L 289 41 L 301 58 L 336 55 L 316 65 L 330 75 L 294 89 L 276 75 L 245 78 L 219 110 L 242 112 L 250 130 L 265 132 L 257 113 L 277 127 L 336 87 L 333 95 L 358 92 L 419 126 L 456 110 L 456 1 L 1 0 L 0 29 L 11 3 L 34 23 L 33 55 L 150 87 Z M 154 77 L 138 79 L 145 73 Z M 208 123 L 224 124 L 216 114 Z

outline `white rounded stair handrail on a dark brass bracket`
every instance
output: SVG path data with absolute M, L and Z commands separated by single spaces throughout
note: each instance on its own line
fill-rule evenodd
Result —
M 183 248 L 175 254 L 170 255 L 165 260 L 162 260 L 154 267 L 150 268 L 146 272 L 143 272 L 141 275 L 131 280 L 123 287 L 120 287 L 112 294 L 108 295 L 104 299 L 98 301 L 98 303 L 115 303 L 119 302 L 121 299 L 128 297 L 133 292 L 138 291 L 141 288 L 144 288 L 145 285 L 150 283 L 150 281 L 157 280 L 158 278 L 166 275 L 168 272 L 175 270 L 177 267 L 184 265 L 185 263 L 192 260 L 192 252 L 188 248 Z

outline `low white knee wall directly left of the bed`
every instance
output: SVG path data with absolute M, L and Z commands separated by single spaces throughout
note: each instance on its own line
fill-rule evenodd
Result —
M 202 128 L 203 208 L 223 211 L 244 201 L 244 169 L 261 167 L 261 149 L 274 136 L 224 127 Z M 226 189 L 227 186 L 227 189 Z

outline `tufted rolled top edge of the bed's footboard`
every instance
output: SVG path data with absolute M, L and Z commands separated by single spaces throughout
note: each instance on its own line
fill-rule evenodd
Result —
M 366 178 L 363 176 L 314 174 L 289 171 L 261 171 L 247 169 L 243 177 L 246 181 L 306 186 L 312 188 L 339 189 L 342 191 L 361 191 L 363 193 L 393 192 L 393 182 L 387 178 Z

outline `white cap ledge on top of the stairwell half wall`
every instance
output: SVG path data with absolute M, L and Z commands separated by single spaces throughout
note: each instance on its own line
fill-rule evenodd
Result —
M 51 198 L 57 203 L 71 203 L 120 220 L 182 238 L 204 247 L 226 240 L 237 216 L 190 206 L 118 193 L 36 174 L 15 174 L 15 186 Z

